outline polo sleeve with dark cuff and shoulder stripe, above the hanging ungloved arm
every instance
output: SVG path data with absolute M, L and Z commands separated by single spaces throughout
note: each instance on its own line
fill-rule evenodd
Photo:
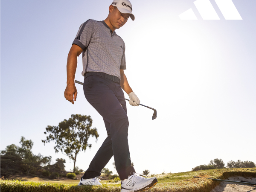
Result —
M 79 27 L 79 31 L 76 34 L 76 38 L 73 41 L 73 44 L 78 45 L 85 51 L 90 44 L 90 40 L 93 37 L 94 32 L 95 28 L 93 20 L 89 19 Z

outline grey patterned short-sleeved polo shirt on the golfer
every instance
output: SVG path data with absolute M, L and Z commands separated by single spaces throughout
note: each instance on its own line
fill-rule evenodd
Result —
M 89 19 L 81 24 L 73 44 L 83 49 L 83 71 L 103 72 L 120 78 L 126 69 L 125 42 L 105 21 Z

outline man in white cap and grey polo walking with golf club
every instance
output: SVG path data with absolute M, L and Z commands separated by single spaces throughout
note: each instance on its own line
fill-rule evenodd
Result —
M 121 192 L 143 191 L 157 183 L 155 177 L 141 177 L 131 166 L 129 122 L 122 89 L 128 94 L 130 105 L 139 106 L 140 100 L 125 76 L 125 43 L 115 32 L 125 25 L 129 17 L 134 20 L 131 3 L 114 0 L 105 20 L 90 19 L 80 26 L 68 54 L 65 98 L 73 104 L 76 101 L 77 57 L 83 52 L 84 95 L 103 117 L 108 134 L 79 185 L 101 185 L 98 177 L 112 156 L 121 179 Z

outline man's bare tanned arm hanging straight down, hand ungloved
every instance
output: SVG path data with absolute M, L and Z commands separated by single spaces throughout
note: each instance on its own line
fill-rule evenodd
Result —
M 67 87 L 64 92 L 65 98 L 74 104 L 76 101 L 77 90 L 75 86 L 75 74 L 77 67 L 77 57 L 83 49 L 78 45 L 73 44 L 67 56 Z

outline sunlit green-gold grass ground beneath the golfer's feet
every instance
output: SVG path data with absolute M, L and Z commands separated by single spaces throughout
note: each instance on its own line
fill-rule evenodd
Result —
M 158 183 L 148 192 L 210 192 L 219 182 L 194 176 L 226 179 L 233 176 L 256 177 L 256 168 L 212 169 L 196 172 L 154 175 Z M 120 182 L 102 181 L 103 186 L 77 186 L 20 180 L 1 180 L 1 192 L 120 192 Z

